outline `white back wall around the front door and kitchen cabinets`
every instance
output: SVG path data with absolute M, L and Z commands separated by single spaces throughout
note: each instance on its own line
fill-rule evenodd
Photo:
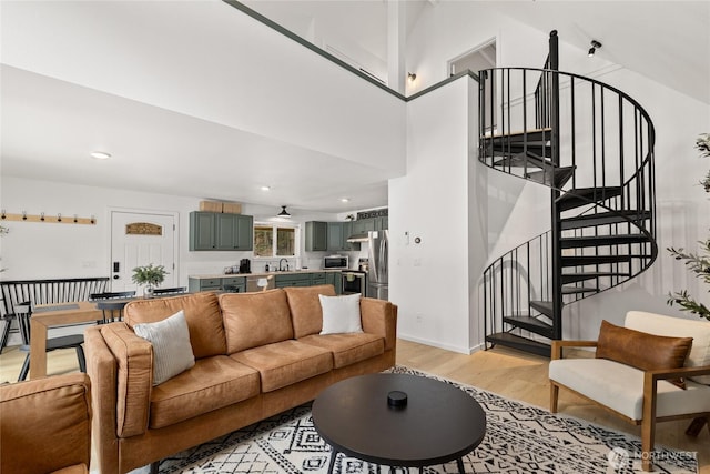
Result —
M 200 198 L 149 194 L 134 191 L 80 186 L 58 182 L 2 177 L 0 208 L 8 212 L 27 211 L 28 214 L 81 218 L 94 215 L 95 225 L 55 223 L 6 222 L 10 233 L 2 238 L 1 266 L 7 268 L 2 280 L 108 276 L 111 259 L 111 209 L 175 212 L 179 214 L 179 281 L 186 285 L 191 274 L 222 273 L 224 266 L 240 259 L 251 259 L 252 252 L 190 252 L 190 212 L 199 210 Z M 242 213 L 255 220 L 271 220 L 278 211 L 274 206 L 245 203 Z M 292 221 L 302 224 L 308 220 L 336 220 L 336 215 L 290 210 Z M 304 252 L 302 262 L 315 266 L 321 254 Z M 296 262 L 290 262 L 292 265 Z M 254 270 L 262 270 L 263 262 Z

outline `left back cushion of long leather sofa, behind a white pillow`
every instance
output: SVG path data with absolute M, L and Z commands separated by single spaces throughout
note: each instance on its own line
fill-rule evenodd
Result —
M 162 321 L 180 310 L 185 313 L 195 359 L 226 354 L 222 313 L 214 293 L 135 300 L 125 305 L 123 315 L 133 327 L 140 323 Z

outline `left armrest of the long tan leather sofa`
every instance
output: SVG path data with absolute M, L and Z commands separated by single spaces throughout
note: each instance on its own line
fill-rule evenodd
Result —
M 115 427 L 119 437 L 148 430 L 153 385 L 153 346 L 123 322 L 103 324 L 101 336 L 115 360 Z

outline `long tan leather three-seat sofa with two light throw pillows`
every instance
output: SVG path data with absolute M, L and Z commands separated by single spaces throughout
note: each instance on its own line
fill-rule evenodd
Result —
M 318 294 L 335 292 L 294 286 L 134 301 L 123 322 L 87 330 L 101 473 L 154 463 L 395 364 L 396 305 L 363 297 L 362 333 L 321 335 Z M 152 346 L 133 327 L 180 310 L 195 365 L 152 386 Z

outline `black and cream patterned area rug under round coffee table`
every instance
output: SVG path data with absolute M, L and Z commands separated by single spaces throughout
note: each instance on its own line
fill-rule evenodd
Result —
M 639 438 L 613 432 L 469 385 L 395 367 L 395 373 L 430 376 L 460 387 L 487 416 L 483 443 L 464 458 L 466 473 L 636 473 L 641 472 Z M 164 460 L 161 473 L 326 473 L 329 446 L 318 436 L 305 404 Z M 697 473 L 696 453 L 657 451 L 655 470 Z M 142 470 L 141 470 L 142 471 Z M 338 455 L 334 473 L 404 473 Z M 413 471 L 415 472 L 415 471 Z M 457 473 L 456 463 L 424 473 Z

